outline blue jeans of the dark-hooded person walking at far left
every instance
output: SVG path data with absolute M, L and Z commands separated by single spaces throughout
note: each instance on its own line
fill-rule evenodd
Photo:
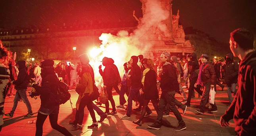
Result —
M 18 106 L 18 102 L 19 102 L 19 96 L 21 97 L 21 99 L 23 100 L 23 102 L 26 104 L 27 106 L 27 112 L 29 114 L 32 113 L 31 110 L 31 105 L 29 103 L 29 99 L 27 99 L 27 89 L 22 89 L 22 90 L 17 90 L 14 100 L 13 100 L 13 106 L 12 106 L 12 110 L 10 112 L 11 115 L 13 115 L 14 111 L 16 110 L 17 106 Z

